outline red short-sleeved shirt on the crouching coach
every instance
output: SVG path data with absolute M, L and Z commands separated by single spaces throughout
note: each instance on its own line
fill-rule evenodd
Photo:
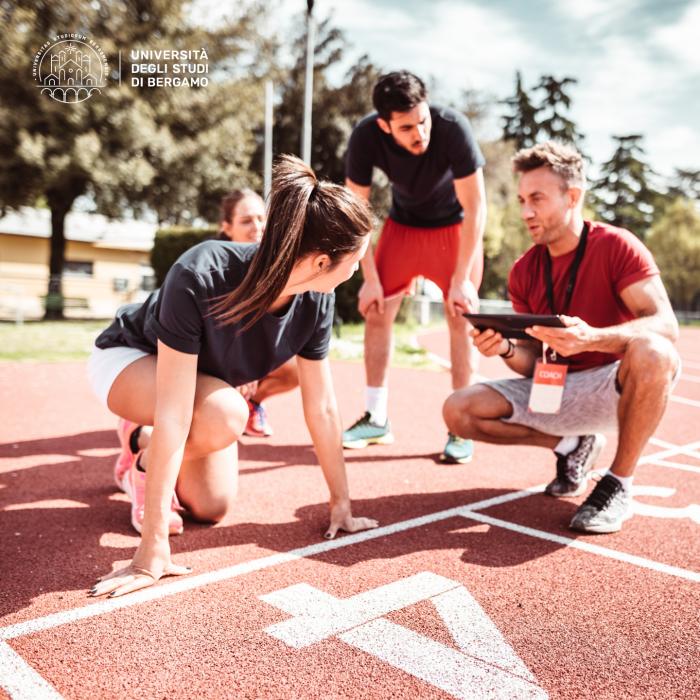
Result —
M 635 318 L 620 293 L 629 285 L 659 274 L 648 248 L 622 228 L 589 222 L 588 243 L 576 278 L 567 316 L 578 316 L 595 328 L 616 326 Z M 546 246 L 532 246 L 508 276 L 508 294 L 518 313 L 549 314 L 545 282 Z M 566 286 L 576 251 L 552 258 L 552 281 L 557 312 L 562 313 Z M 567 358 L 569 371 L 599 367 L 621 355 L 584 352 Z

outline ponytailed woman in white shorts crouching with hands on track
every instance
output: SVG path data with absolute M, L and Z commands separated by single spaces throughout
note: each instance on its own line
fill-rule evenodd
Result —
M 361 199 L 285 156 L 259 246 L 205 241 L 191 248 L 160 290 L 142 305 L 122 307 L 97 338 L 88 373 L 121 417 L 115 478 L 142 537 L 132 562 L 102 577 L 92 595 L 119 596 L 190 571 L 172 562 L 168 535 L 182 531 L 182 509 L 217 522 L 232 505 L 236 441 L 249 415 L 234 387 L 295 355 L 304 416 L 330 491 L 325 537 L 377 526 L 351 512 L 327 360 L 332 291 L 357 269 L 371 228 Z

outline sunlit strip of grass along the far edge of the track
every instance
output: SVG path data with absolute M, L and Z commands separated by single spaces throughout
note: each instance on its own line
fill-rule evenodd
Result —
M 104 321 L 28 321 L 21 325 L 0 322 L 0 361 L 64 362 L 86 360 Z M 397 367 L 439 369 L 415 342 L 414 323 L 397 323 L 394 328 L 394 358 Z M 362 361 L 364 326 L 343 325 L 340 338 L 333 336 L 330 356 L 336 360 Z

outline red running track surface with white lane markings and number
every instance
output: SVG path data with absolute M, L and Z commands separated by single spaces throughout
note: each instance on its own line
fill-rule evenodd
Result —
M 131 557 L 114 420 L 82 363 L 0 365 L 0 690 L 65 698 L 700 696 L 700 333 L 616 535 L 534 491 L 551 453 L 436 461 L 446 372 L 394 369 L 395 445 L 347 455 L 372 533 L 322 541 L 326 492 L 298 394 L 241 446 L 238 509 L 173 538 L 180 579 L 86 597 Z M 444 334 L 423 338 L 443 354 Z M 360 364 L 333 367 L 345 422 Z M 498 363 L 484 363 L 494 376 Z M 599 466 L 609 460 L 613 443 Z

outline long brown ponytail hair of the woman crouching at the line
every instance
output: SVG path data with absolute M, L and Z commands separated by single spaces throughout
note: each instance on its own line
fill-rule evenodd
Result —
M 289 281 L 295 263 L 312 253 L 326 254 L 331 268 L 356 252 L 372 230 L 365 200 L 346 187 L 319 181 L 295 156 L 282 156 L 272 174 L 265 232 L 243 281 L 214 300 L 211 313 L 223 324 L 260 320 Z

